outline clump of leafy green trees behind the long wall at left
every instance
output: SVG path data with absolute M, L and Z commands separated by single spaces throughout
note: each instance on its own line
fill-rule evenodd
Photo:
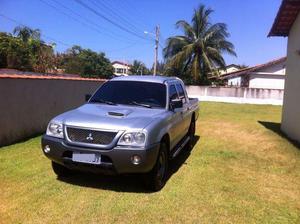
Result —
M 65 70 L 83 77 L 109 78 L 113 67 L 104 53 L 73 46 L 54 54 L 54 44 L 41 40 L 38 29 L 16 27 L 12 34 L 0 32 L 0 67 L 24 71 L 52 72 Z

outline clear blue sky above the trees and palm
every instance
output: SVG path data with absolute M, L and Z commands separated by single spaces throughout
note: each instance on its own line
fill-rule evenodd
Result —
M 176 21 L 190 21 L 201 3 L 214 10 L 212 22 L 228 25 L 237 57 L 224 55 L 227 64 L 255 65 L 286 55 L 286 38 L 267 38 L 281 0 L 0 0 L 0 14 L 39 28 L 46 42 L 56 40 L 57 51 L 77 44 L 111 60 L 138 59 L 151 66 L 154 41 L 143 31 L 154 32 L 159 24 L 163 46 L 166 38 L 180 34 Z M 0 16 L 0 31 L 12 32 L 16 25 Z

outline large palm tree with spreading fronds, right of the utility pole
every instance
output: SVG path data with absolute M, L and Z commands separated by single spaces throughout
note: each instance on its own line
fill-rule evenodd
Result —
M 184 35 L 167 39 L 163 49 L 168 67 L 190 71 L 192 79 L 205 80 L 216 68 L 226 66 L 223 53 L 236 56 L 234 46 L 227 40 L 229 33 L 224 23 L 210 23 L 210 8 L 200 5 L 194 11 L 191 24 L 184 20 L 176 23 Z

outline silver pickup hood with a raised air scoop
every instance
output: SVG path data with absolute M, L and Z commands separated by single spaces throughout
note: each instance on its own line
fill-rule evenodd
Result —
M 143 129 L 165 109 L 105 104 L 84 104 L 56 117 L 67 126 L 108 130 Z

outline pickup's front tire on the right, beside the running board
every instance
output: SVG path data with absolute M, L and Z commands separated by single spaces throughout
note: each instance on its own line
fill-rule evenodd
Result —
M 145 183 L 149 190 L 159 191 L 165 186 L 168 175 L 168 165 L 168 147 L 166 143 L 162 142 L 154 167 L 145 175 Z

